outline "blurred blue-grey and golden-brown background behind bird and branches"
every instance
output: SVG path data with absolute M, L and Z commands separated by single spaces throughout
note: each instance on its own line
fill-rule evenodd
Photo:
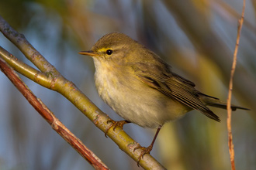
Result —
M 237 55 L 232 103 L 251 111 L 232 115 L 237 169 L 256 169 L 256 2 L 247 0 Z M 114 120 L 122 120 L 99 98 L 88 50 L 103 35 L 123 32 L 168 62 L 175 73 L 198 90 L 227 100 L 230 68 L 237 38 L 239 0 L 9 0 L 0 15 L 57 67 L 67 80 Z M 9 40 L 0 46 L 31 65 Z M 26 77 L 22 80 L 78 138 L 111 169 L 141 169 L 104 133 L 59 93 Z M 191 111 L 164 125 L 151 155 L 168 169 L 230 169 L 227 111 L 211 108 L 222 120 Z M 0 73 L 0 169 L 93 169 L 36 113 Z M 127 124 L 125 131 L 148 146 L 155 129 Z

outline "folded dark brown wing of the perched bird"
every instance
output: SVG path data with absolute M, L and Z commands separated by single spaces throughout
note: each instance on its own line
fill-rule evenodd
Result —
M 135 73 L 138 79 L 147 84 L 147 86 L 159 90 L 164 95 L 174 98 L 192 109 L 199 110 L 202 114 L 215 121 L 220 121 L 220 118 L 212 110 L 209 110 L 200 99 L 200 92 L 195 90 L 195 84 L 191 81 L 178 76 L 178 74 L 164 72 L 163 70 L 152 73 L 152 71 L 136 69 Z

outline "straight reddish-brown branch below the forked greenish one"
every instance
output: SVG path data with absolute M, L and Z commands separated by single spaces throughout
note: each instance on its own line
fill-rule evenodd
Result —
M 12 70 L 12 68 L 10 68 L 2 58 L 0 58 L 0 69 L 17 87 L 26 100 L 29 101 L 29 104 L 31 104 L 51 125 L 54 131 L 57 131 L 57 133 L 60 134 L 61 137 L 64 138 L 64 140 L 67 141 L 67 143 L 69 143 L 76 151 L 78 151 L 83 158 L 85 158 L 95 169 L 109 169 L 96 155 L 93 154 L 92 151 L 86 148 L 85 145 L 83 145 L 83 143 L 57 119 L 57 117 L 54 116 L 47 106 L 43 104 L 43 102 L 37 98 L 28 87 L 26 87 L 26 84 L 22 82 L 15 71 Z

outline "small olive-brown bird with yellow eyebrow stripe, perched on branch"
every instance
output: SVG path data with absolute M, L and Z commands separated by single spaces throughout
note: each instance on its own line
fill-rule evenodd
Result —
M 130 122 L 144 128 L 157 128 L 147 148 L 137 147 L 143 149 L 138 163 L 152 150 L 165 122 L 177 120 L 190 110 L 199 110 L 220 121 L 207 106 L 227 108 L 225 102 L 196 90 L 195 83 L 173 73 L 171 66 L 157 54 L 123 33 L 102 36 L 91 50 L 79 54 L 92 56 L 99 96 L 125 120 L 111 121 L 109 128 L 123 128 L 123 124 Z M 234 105 L 231 108 L 248 110 Z

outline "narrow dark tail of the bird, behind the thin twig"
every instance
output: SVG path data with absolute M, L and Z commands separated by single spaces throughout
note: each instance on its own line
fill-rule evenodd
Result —
M 204 93 L 200 93 L 199 95 L 200 95 L 200 98 L 202 98 L 202 100 L 206 103 L 206 105 L 211 106 L 211 107 L 219 107 L 222 109 L 227 109 L 227 103 L 219 100 L 218 98 L 208 96 Z M 231 109 L 232 110 L 237 110 L 237 109 L 250 110 L 245 107 L 239 107 L 239 106 L 236 106 L 233 104 L 231 104 Z

